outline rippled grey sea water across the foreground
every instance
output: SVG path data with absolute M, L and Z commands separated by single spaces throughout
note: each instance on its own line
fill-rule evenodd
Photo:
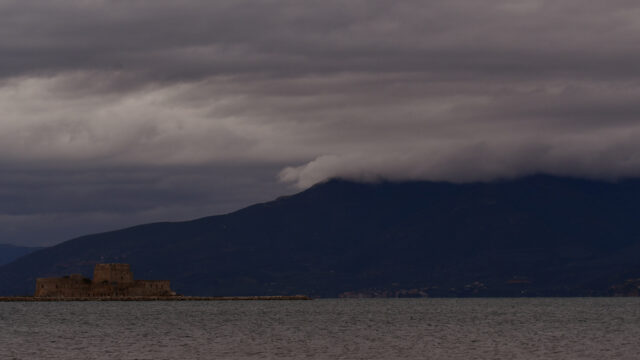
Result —
M 0 359 L 640 359 L 640 299 L 0 303 Z

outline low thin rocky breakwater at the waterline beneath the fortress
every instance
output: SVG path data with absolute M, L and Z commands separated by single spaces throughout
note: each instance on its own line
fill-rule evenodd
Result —
M 247 301 L 247 300 L 311 300 L 306 295 L 292 296 L 120 296 L 120 297 L 34 297 L 2 296 L 0 302 L 52 301 Z

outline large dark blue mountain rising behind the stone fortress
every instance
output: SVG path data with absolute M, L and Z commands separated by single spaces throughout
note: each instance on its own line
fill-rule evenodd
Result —
M 610 295 L 640 278 L 639 220 L 640 180 L 331 180 L 227 215 L 46 248 L 0 267 L 0 291 L 125 262 L 188 295 Z

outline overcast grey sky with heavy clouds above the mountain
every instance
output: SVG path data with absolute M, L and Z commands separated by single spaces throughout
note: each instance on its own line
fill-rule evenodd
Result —
M 640 175 L 640 3 L 0 1 L 0 243 L 327 178 Z

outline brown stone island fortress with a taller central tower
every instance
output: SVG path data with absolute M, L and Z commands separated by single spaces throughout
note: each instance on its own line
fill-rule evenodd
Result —
M 169 280 L 134 280 L 129 264 L 96 264 L 93 280 L 81 274 L 36 279 L 35 297 L 112 298 L 174 296 Z

